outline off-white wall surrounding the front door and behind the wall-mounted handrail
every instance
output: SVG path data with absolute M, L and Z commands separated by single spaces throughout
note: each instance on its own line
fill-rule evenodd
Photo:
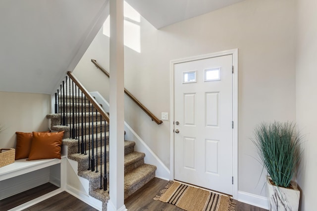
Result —
M 125 48 L 125 87 L 158 117 L 170 113 L 170 60 L 239 48 L 239 191 L 265 195 L 250 140 L 254 127 L 295 120 L 295 6 L 295 0 L 245 0 L 160 30 L 142 18 L 141 53 Z M 78 78 L 93 80 L 93 72 L 77 67 Z M 169 121 L 158 126 L 127 97 L 125 104 L 126 122 L 169 167 Z

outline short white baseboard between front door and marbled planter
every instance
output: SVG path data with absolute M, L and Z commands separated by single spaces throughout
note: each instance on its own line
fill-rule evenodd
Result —
M 238 201 L 268 210 L 267 197 L 238 191 Z

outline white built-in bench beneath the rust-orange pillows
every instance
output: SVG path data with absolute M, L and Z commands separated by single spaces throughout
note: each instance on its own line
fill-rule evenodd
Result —
M 66 165 L 66 156 L 62 155 L 61 159 L 43 159 L 43 160 L 34 160 L 34 161 L 26 161 L 26 159 L 16 160 L 13 164 L 9 164 L 7 166 L 0 168 L 0 184 L 4 184 L 10 179 L 14 179 L 16 176 L 20 176 L 23 174 L 30 173 L 35 170 L 44 169 L 44 168 L 53 168 L 58 175 L 60 187 L 55 189 L 54 191 L 47 193 L 43 196 L 40 196 L 36 199 L 33 199 L 29 202 L 26 202 L 22 205 L 19 205 L 10 211 L 20 211 L 26 209 L 32 205 L 35 205 L 41 201 L 44 201 L 58 193 L 61 193 L 65 186 L 65 178 L 62 175 L 65 175 L 65 165 Z M 7 180 L 6 180 L 7 179 Z M 6 180 L 6 181 L 4 181 Z M 3 185 L 0 185 L 3 186 Z

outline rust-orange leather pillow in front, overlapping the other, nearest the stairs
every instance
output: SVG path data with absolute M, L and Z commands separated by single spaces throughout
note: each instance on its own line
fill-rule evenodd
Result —
M 33 132 L 29 161 L 58 158 L 60 159 L 61 140 L 64 131 L 59 132 Z

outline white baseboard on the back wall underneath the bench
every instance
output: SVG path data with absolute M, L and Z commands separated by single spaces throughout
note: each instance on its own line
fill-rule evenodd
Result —
M 0 200 L 50 181 L 49 169 L 39 169 L 0 181 Z

